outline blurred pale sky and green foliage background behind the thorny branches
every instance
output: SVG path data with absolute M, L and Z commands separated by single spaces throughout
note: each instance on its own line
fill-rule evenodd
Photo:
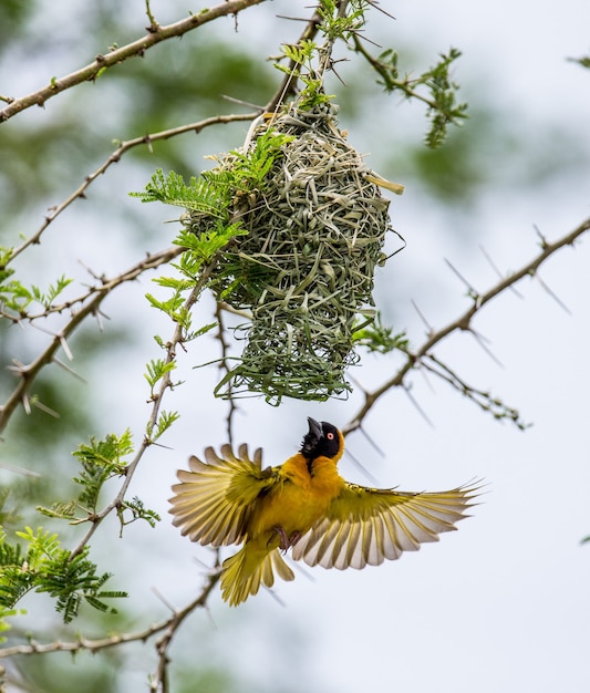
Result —
M 152 0 L 162 24 L 204 7 Z M 590 51 L 590 6 L 402 0 L 382 7 L 396 19 L 372 10 L 365 35 L 398 52 L 402 73 L 418 74 L 441 52 L 458 48 L 463 56 L 454 79 L 469 104 L 464 125 L 452 128 L 441 149 L 428 151 L 424 108 L 383 95 L 370 68 L 352 53 L 340 48 L 334 55 L 344 59 L 338 72 L 345 86 L 333 77 L 328 83 L 341 107 L 340 126 L 373 169 L 406 186 L 390 210 L 407 247 L 379 270 L 375 298 L 384 322 L 407 330 L 420 345 L 427 328 L 412 302 L 435 329 L 470 304 L 445 259 L 485 291 L 498 278 L 482 248 L 501 272 L 517 270 L 539 251 L 536 228 L 551 241 L 589 216 L 590 72 L 568 58 Z M 262 3 L 237 21 L 221 19 L 166 41 L 96 83 L 3 123 L 0 242 L 17 245 L 20 236 L 31 236 L 46 209 L 108 157 L 113 141 L 239 112 L 224 95 L 266 103 L 281 77 L 267 58 L 302 28 L 279 15 L 309 14 L 299 0 Z M 0 93 L 35 91 L 108 46 L 143 35 L 146 24 L 139 0 L 124 7 L 107 0 L 66 0 L 59 7 L 3 0 Z M 155 143 L 151 152 L 135 148 L 89 188 L 86 199 L 51 224 L 41 245 L 19 258 L 19 276 L 45 287 L 63 273 L 75 279 L 72 296 L 77 296 L 91 283 L 89 269 L 112 277 L 169 246 L 178 211 L 142 205 L 127 193 L 143 189 L 157 167 L 198 174 L 209 165 L 205 155 L 239 146 L 247 130 L 247 124 L 219 126 Z M 531 424 L 526 431 L 494 421 L 443 382 L 416 372 L 411 395 L 428 421 L 397 389 L 368 417 L 371 439 L 360 433 L 348 437 L 354 457 L 384 487 L 442 490 L 485 478 L 482 504 L 459 531 L 380 568 L 304 569 L 294 582 L 277 585 L 275 594 L 261 592 L 239 609 L 230 610 L 216 591 L 208 610 L 192 616 L 170 649 L 173 691 L 587 690 L 590 546 L 580 541 L 590 534 L 589 260 L 582 238 L 541 267 L 542 281 L 567 310 L 535 278 L 520 282 L 518 294 L 505 292 L 482 310 L 474 327 L 494 359 L 470 334 L 453 335 L 435 350 L 468 383 L 517 407 Z M 166 339 L 173 331 L 145 300 L 146 292 L 158 291 L 151 276 L 143 276 L 105 301 L 102 330 L 95 322 L 75 334 L 73 368 L 84 383 L 55 366 L 43 372 L 34 391 L 60 412 L 59 420 L 34 410 L 11 422 L 0 463 L 40 475 L 0 469 L 23 524 L 68 531 L 63 523 L 28 508 L 73 495 L 71 452 L 89 436 L 130 427 L 142 439 L 149 413 L 143 373 L 146 362 L 161 355 L 153 337 Z M 195 323 L 210 322 L 214 310 L 205 297 Z M 28 363 L 48 340 L 38 329 L 0 324 L 1 401 L 14 383 L 4 366 L 12 359 Z M 131 594 L 116 604 L 120 616 L 86 609 L 62 630 L 49 599 L 31 594 L 22 606 L 34 618 L 15 619 L 10 638 L 28 630 L 35 638 L 44 630 L 48 641 L 139 630 L 167 617 L 165 601 L 180 608 L 198 593 L 213 554 L 172 527 L 167 497 L 189 454 L 227 439 L 228 405 L 211 395 L 219 372 L 195 370 L 218 355 L 218 342 L 204 337 L 180 358 L 178 379 L 185 384 L 168 393 L 165 408 L 179 411 L 182 418 L 162 441 L 167 447 L 149 449 L 134 477 L 132 495 L 157 510 L 162 523 L 155 529 L 134 524 L 120 539 L 117 523 L 108 520 L 92 545 L 99 567 L 114 572 L 110 587 Z M 368 355 L 351 375 L 372 389 L 397 364 L 395 355 Z M 261 399 L 242 400 L 235 439 L 262 446 L 265 462 L 280 464 L 300 444 L 308 415 L 343 426 L 362 401 L 359 387 L 348 400 L 324 404 L 284 401 L 275 408 Z M 341 466 L 346 478 L 371 484 L 350 458 Z M 80 528 L 70 531 L 74 544 Z M 147 643 L 74 660 L 66 653 L 28 658 L 10 666 L 30 691 L 120 693 L 145 690 L 155 663 Z

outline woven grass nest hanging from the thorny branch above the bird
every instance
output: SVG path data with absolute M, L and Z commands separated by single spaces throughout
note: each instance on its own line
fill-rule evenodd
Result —
M 350 390 L 353 332 L 374 314 L 373 275 L 391 228 L 380 185 L 403 188 L 368 168 L 328 104 L 299 111 L 293 103 L 259 118 L 241 152 L 269 132 L 289 137 L 261 189 L 235 200 L 235 220 L 248 232 L 224 251 L 214 289 L 251 312 L 241 361 L 217 392 L 321 401 Z M 227 155 L 219 168 L 236 158 Z

